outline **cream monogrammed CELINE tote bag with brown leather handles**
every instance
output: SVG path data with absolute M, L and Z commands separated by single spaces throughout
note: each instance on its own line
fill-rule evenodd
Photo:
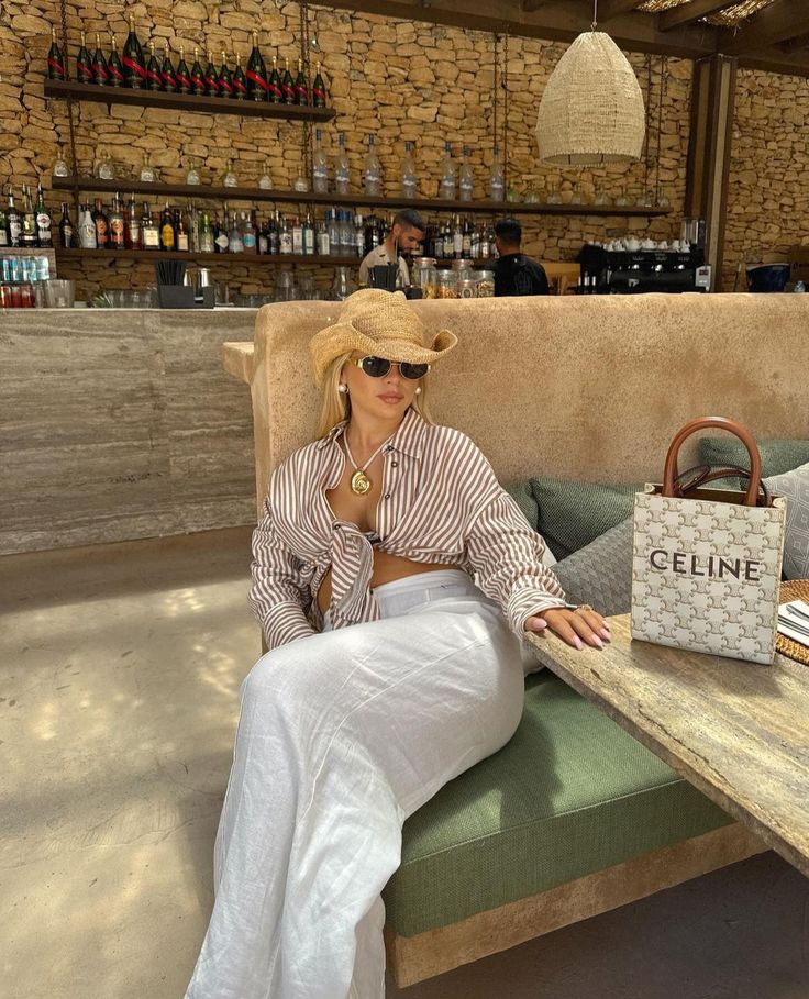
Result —
M 720 428 L 750 454 L 750 470 L 699 466 L 678 475 L 683 443 Z M 666 455 L 662 486 L 635 493 L 632 637 L 754 663 L 772 663 L 786 501 L 762 486 L 750 431 L 723 417 L 686 424 Z M 706 488 L 730 476 L 744 492 Z

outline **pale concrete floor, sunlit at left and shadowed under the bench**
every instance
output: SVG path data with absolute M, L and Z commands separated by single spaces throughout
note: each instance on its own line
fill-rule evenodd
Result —
M 0 996 L 179 999 L 211 904 L 250 533 L 0 559 Z M 388 999 L 809 999 L 764 854 Z

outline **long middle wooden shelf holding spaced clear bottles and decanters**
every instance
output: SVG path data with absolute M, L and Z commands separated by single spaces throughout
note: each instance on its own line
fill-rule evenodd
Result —
M 144 184 L 141 180 L 98 180 L 95 177 L 54 177 L 53 189 L 57 191 L 109 192 L 181 196 L 210 199 L 212 201 L 279 201 L 284 204 L 359 206 L 362 208 L 414 208 L 422 212 L 443 211 L 465 214 L 516 214 L 516 215 L 640 215 L 653 218 L 667 215 L 669 208 L 642 208 L 638 206 L 618 208 L 595 204 L 545 204 L 527 201 L 450 201 L 441 198 L 376 198 L 368 195 L 315 195 L 313 191 L 289 191 L 259 187 L 221 187 L 207 184 Z

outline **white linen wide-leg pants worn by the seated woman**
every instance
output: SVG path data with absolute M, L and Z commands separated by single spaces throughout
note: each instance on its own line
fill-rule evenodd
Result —
M 381 999 L 402 823 L 517 729 L 520 643 L 465 573 L 375 596 L 383 620 L 273 650 L 242 686 L 187 999 Z

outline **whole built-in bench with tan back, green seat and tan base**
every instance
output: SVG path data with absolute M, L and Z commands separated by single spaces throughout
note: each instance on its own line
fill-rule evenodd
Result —
M 721 412 L 757 437 L 808 436 L 806 298 L 414 308 L 459 336 L 430 376 L 435 418 L 468 433 L 500 481 L 621 484 L 656 480 L 672 435 L 696 415 Z M 337 309 L 267 306 L 254 344 L 224 345 L 226 368 L 251 387 L 259 503 L 271 469 L 313 439 L 308 342 Z M 409 985 L 763 848 L 563 682 L 532 675 L 511 742 L 406 823 L 385 891 L 388 966 Z

